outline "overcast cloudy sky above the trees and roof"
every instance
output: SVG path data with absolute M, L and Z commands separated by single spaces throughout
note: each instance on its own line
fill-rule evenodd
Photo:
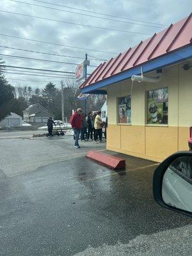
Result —
M 54 44 L 68 45 L 70 47 L 79 47 L 90 50 L 44 44 L 40 42 L 33 42 L 29 40 L 22 40 L 19 38 L 12 38 L 0 35 L 0 46 L 3 46 L 0 47 L 0 53 L 28 58 L 62 61 L 68 63 L 81 63 L 86 52 L 89 56 L 109 60 L 109 58 L 116 56 L 116 54 L 108 52 L 124 52 L 129 49 L 129 47 L 138 44 L 141 40 L 147 39 L 155 32 L 163 30 L 171 23 L 175 23 L 180 19 L 188 16 L 192 10 L 191 0 L 42 0 L 46 3 L 40 3 L 40 1 L 35 0 L 18 1 L 23 3 L 18 3 L 10 0 L 1 0 L 0 11 L 22 13 L 24 15 L 33 15 L 46 19 L 61 20 L 63 22 L 37 19 L 34 17 L 15 15 L 13 13 L 0 12 L 1 34 L 19 36 L 22 38 L 29 38 L 33 40 L 51 42 Z M 60 4 L 70 8 L 56 6 L 48 3 Z M 48 6 L 60 10 L 52 10 L 49 8 L 35 6 L 31 4 Z M 76 10 L 72 8 L 77 8 L 81 10 Z M 109 17 L 106 15 L 84 12 L 83 10 L 97 13 L 105 13 L 108 15 L 124 17 L 126 19 L 119 19 L 117 17 Z M 84 15 L 80 15 L 77 13 L 82 13 Z M 89 17 L 87 15 L 113 20 Z M 118 22 L 115 20 L 122 20 L 124 22 Z M 87 26 L 116 29 L 121 31 L 88 28 L 86 26 L 79 26 L 77 24 L 67 24 L 64 21 L 84 24 Z M 128 33 L 126 31 L 134 33 Z M 16 49 L 7 49 L 4 47 L 14 47 L 30 51 L 62 54 L 79 58 L 52 56 L 35 52 L 19 51 Z M 64 63 L 48 63 L 43 61 L 22 60 L 17 58 L 8 58 L 8 56 L 1 56 L 1 58 L 6 61 L 5 65 L 10 66 L 42 68 L 67 72 L 75 72 L 76 70 L 76 65 L 67 65 Z M 82 60 L 80 58 L 82 58 Z M 97 66 L 99 65 L 99 63 L 100 60 L 91 60 L 91 65 Z M 95 67 L 89 67 L 88 72 L 91 73 L 94 68 Z M 7 69 L 9 69 L 7 70 L 7 72 L 18 73 L 20 73 L 20 70 L 22 70 L 16 68 Z M 51 75 L 49 74 L 49 76 Z M 35 74 L 33 74 L 33 76 L 6 74 L 6 77 L 8 81 L 14 86 L 29 85 L 33 88 L 42 88 L 49 81 L 52 81 L 59 86 L 61 81 L 60 78 L 40 77 L 35 76 Z M 20 81 L 19 79 L 25 81 Z

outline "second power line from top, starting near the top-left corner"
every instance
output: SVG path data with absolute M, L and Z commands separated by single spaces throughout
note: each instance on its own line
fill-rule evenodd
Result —
M 61 11 L 61 12 L 74 13 L 74 14 L 83 15 L 83 16 L 87 16 L 87 17 L 93 17 L 93 18 L 97 18 L 97 19 L 111 20 L 111 21 L 121 22 L 121 23 L 125 23 L 125 24 L 133 24 L 133 25 L 147 26 L 147 27 L 161 28 L 161 29 L 164 28 L 163 25 L 161 25 L 161 27 L 160 26 L 152 26 L 152 25 L 148 25 L 148 24 L 140 24 L 140 23 L 124 21 L 124 20 L 115 20 L 115 19 L 109 19 L 109 18 L 94 16 L 94 15 L 89 15 L 89 14 L 85 14 L 85 13 L 78 13 L 78 12 L 72 12 L 72 11 L 67 11 L 67 10 L 61 10 L 61 9 L 53 8 L 53 7 L 50 7 L 50 6 L 43 6 L 43 5 L 39 5 L 39 4 L 31 4 L 31 3 L 26 3 L 26 2 L 17 1 L 17 0 L 10 0 L 10 1 L 16 2 L 16 3 L 21 3 L 21 4 L 28 4 L 28 5 L 31 5 L 31 6 L 38 6 L 38 7 L 47 8 L 47 9 L 56 10 L 56 11 Z

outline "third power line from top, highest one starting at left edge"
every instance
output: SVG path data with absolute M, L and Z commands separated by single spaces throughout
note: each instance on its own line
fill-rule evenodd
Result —
M 138 35 L 151 35 L 151 34 L 143 33 L 143 32 L 134 32 L 134 31 L 121 30 L 121 29 L 104 28 L 104 27 L 97 27 L 97 26 L 79 24 L 79 23 L 69 22 L 69 21 L 64 21 L 64 20 L 49 19 L 49 18 L 45 18 L 45 17 L 39 17 L 39 16 L 34 16 L 34 15 L 28 15 L 28 14 L 24 14 L 24 13 L 8 12 L 8 11 L 3 11 L 3 10 L 0 10 L 0 12 L 3 12 L 3 13 L 10 13 L 10 14 L 14 14 L 14 15 L 21 15 L 21 16 L 29 17 L 29 18 L 42 19 L 42 20 L 49 20 L 49 21 L 61 22 L 61 23 L 65 23 L 65 24 L 72 24 L 72 25 L 77 25 L 77 26 L 83 26 L 83 27 L 86 27 L 86 28 L 97 28 L 97 29 L 104 29 L 104 30 L 116 31 L 116 32 L 125 32 L 125 33 L 138 34 Z

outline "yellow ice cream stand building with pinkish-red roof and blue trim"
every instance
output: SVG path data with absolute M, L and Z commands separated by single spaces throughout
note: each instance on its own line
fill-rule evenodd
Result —
M 108 95 L 108 150 L 158 162 L 188 150 L 192 15 L 101 63 L 81 92 Z

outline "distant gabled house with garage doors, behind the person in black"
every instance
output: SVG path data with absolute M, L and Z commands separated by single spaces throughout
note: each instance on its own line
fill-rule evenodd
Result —
M 26 122 L 46 123 L 49 117 L 54 119 L 54 115 L 39 103 L 30 105 L 23 111 L 23 120 Z

